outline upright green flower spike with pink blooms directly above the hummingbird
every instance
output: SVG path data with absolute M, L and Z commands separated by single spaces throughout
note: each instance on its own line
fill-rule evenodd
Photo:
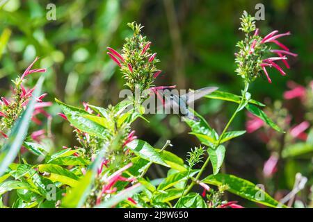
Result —
M 161 74 L 155 64 L 159 62 L 157 53 L 150 51 L 151 42 L 141 35 L 143 26 L 135 22 L 129 23 L 129 27 L 134 31 L 134 35 L 126 38 L 122 54 L 108 47 L 107 53 L 120 67 L 123 77 L 127 80 L 127 85 L 132 91 L 138 87 L 141 92 L 150 88 L 154 78 Z

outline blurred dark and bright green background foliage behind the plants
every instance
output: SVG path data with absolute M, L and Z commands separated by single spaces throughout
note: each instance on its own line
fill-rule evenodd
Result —
M 55 21 L 46 19 L 49 3 L 56 6 Z M 235 44 L 243 38 L 238 30 L 239 17 L 243 10 L 254 15 L 257 3 L 265 6 L 265 20 L 257 22 L 260 34 L 264 36 L 274 29 L 291 31 L 293 35 L 284 37 L 282 43 L 299 54 L 298 58 L 291 58 L 286 77 L 272 69 L 272 84 L 265 78 L 252 84 L 252 96 L 271 104 L 282 99 L 287 80 L 306 85 L 312 79 L 313 1 L 0 1 L 0 33 L 4 33 L 2 40 L 8 38 L 6 46 L 0 47 L 0 94 L 8 95 L 10 79 L 39 56 L 35 67 L 48 68 L 44 89 L 49 96 L 45 101 L 54 101 L 56 97 L 72 105 L 88 101 L 104 107 L 117 103 L 124 80 L 106 56 L 106 47 L 120 50 L 124 38 L 131 35 L 127 22 L 133 21 L 145 26 L 143 33 L 161 60 L 159 69 L 163 72 L 156 85 L 177 85 L 178 89 L 214 85 L 240 94 L 242 80 L 234 73 Z M 33 85 L 37 78 L 38 74 L 34 74 L 28 85 Z M 212 126 L 221 130 L 235 105 L 202 99 L 196 107 Z M 75 144 L 72 128 L 57 116 L 59 111 L 57 105 L 49 109 L 54 115 L 52 131 L 57 149 Z M 174 146 L 170 149 L 181 157 L 198 146 L 179 117 L 157 115 L 148 119 L 150 124 L 138 121 L 134 125 L 139 138 L 155 146 L 163 146 L 166 139 L 171 139 Z M 243 129 L 245 120 L 243 112 L 232 129 Z M 245 135 L 228 145 L 224 171 L 262 182 L 257 178 L 268 155 L 264 144 Z M 162 171 L 156 172 L 150 176 L 162 176 Z M 282 188 L 291 189 L 290 183 Z

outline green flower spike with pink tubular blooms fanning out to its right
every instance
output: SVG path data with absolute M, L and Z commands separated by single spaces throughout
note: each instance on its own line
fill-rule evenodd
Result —
M 239 52 L 235 53 L 235 62 L 237 64 L 236 73 L 247 82 L 255 80 L 263 71 L 268 83 L 272 83 L 266 67 L 274 67 L 282 76 L 286 76 L 286 73 L 282 67 L 277 64 L 277 61 L 282 61 L 287 69 L 289 69 L 290 66 L 287 62 L 287 56 L 296 57 L 298 55 L 291 53 L 287 46 L 278 41 L 278 38 L 290 35 L 290 32 L 278 34 L 278 31 L 273 31 L 265 37 L 260 37 L 259 29 L 255 26 L 255 18 L 248 15 L 247 12 L 243 13 L 241 28 L 239 29 L 246 33 L 246 38 L 236 45 L 239 47 Z M 251 35 L 251 32 L 254 32 L 254 34 Z M 271 49 L 271 47 L 267 46 L 267 43 L 274 43 L 278 45 L 280 49 Z M 276 56 L 267 58 L 270 53 L 275 53 Z

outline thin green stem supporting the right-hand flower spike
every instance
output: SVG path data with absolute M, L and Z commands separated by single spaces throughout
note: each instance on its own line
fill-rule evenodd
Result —
M 246 93 L 248 92 L 248 88 L 249 88 L 249 83 L 245 82 L 245 89 L 243 91 L 242 97 L 241 97 L 241 101 L 238 105 L 238 107 L 236 108 L 236 111 L 234 112 L 234 114 L 232 114 L 232 117 L 230 117 L 230 120 L 228 121 L 228 123 L 226 124 L 223 132 L 220 134 L 220 137 L 218 139 L 218 142 L 215 144 L 214 149 L 218 148 L 218 146 L 220 146 L 220 142 L 223 139 L 224 134 L 226 133 L 227 129 L 230 127 L 230 124 L 232 123 L 232 121 L 234 120 L 234 118 L 236 117 L 236 114 L 242 110 L 242 105 L 245 103 L 246 101 Z M 200 179 L 200 176 L 202 175 L 202 173 L 204 172 L 204 169 L 207 167 L 207 165 L 209 164 L 209 160 L 210 157 L 207 157 L 207 160 L 204 162 L 204 164 L 202 165 L 200 172 L 197 174 L 197 176 L 195 177 L 195 180 L 193 180 L 191 182 L 191 185 L 189 185 L 188 189 L 186 189 L 185 194 L 188 194 L 188 192 L 193 188 L 193 186 L 195 185 L 195 183 L 198 182 L 198 180 Z M 184 195 L 185 195 L 184 194 Z

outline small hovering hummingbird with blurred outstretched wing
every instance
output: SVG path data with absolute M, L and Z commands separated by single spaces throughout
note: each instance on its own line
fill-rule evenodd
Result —
M 188 119 L 199 121 L 198 117 L 195 117 L 193 112 L 189 110 L 189 105 L 194 101 L 206 96 L 207 94 L 211 94 L 212 92 L 216 91 L 218 87 L 204 87 L 202 89 L 198 89 L 192 92 L 188 92 L 187 94 L 183 94 L 179 96 L 178 94 L 170 94 L 166 96 L 165 94 L 165 101 L 163 101 L 162 105 L 159 105 L 158 110 L 160 109 L 172 109 L 173 112 L 177 112 L 181 117 L 186 117 Z M 164 95 L 164 94 L 163 94 Z M 162 98 L 163 98 L 162 95 Z

